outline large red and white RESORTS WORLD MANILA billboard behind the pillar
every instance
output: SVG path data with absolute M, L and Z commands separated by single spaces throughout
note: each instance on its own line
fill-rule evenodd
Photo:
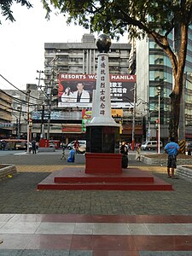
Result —
M 60 73 L 58 80 L 58 107 L 92 107 L 96 74 Z M 110 74 L 109 80 L 112 108 L 131 108 L 136 75 Z

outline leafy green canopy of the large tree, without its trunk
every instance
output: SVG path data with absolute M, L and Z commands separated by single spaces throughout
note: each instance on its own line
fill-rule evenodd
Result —
M 168 35 L 178 23 L 191 24 L 191 0 L 44 0 L 67 15 L 67 23 L 74 21 L 90 32 L 103 32 L 119 38 L 124 32 L 142 38 L 156 31 Z

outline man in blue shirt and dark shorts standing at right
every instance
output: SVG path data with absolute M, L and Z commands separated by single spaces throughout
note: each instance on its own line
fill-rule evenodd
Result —
M 177 154 L 179 152 L 179 146 L 175 143 L 174 138 L 170 138 L 170 143 L 166 144 L 165 151 L 168 154 L 167 160 L 167 177 L 175 178 L 175 169 L 177 167 Z M 172 169 L 172 176 L 170 175 L 170 169 Z

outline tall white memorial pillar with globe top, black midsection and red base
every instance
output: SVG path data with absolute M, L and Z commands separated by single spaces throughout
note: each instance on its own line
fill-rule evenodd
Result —
M 86 125 L 86 173 L 122 172 L 119 154 L 119 124 L 111 116 L 108 50 L 111 40 L 101 35 L 96 41 L 98 67 L 96 92 L 93 97 L 93 117 Z

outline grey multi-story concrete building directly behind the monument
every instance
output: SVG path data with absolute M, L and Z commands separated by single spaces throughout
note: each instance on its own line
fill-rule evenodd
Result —
M 122 139 L 131 142 L 134 88 L 136 77 L 129 75 L 131 44 L 112 44 L 109 50 L 112 108 L 122 126 Z M 81 43 L 44 44 L 44 106 L 32 113 L 33 124 L 44 122 L 47 138 L 71 141 L 84 138 L 82 113 L 91 110 L 93 91 L 96 89 L 97 72 L 96 38 L 84 34 Z M 58 81 L 59 79 L 59 81 Z M 84 90 L 90 94 L 90 102 L 62 102 L 61 94 L 67 87 L 75 90 L 78 82 L 84 82 Z M 39 80 L 39 84 L 42 81 Z M 62 89 L 61 89 L 62 88 Z M 73 94 L 74 95 L 74 94 Z M 141 113 L 135 113 L 135 136 L 143 136 Z M 32 127 L 34 131 L 34 127 Z

